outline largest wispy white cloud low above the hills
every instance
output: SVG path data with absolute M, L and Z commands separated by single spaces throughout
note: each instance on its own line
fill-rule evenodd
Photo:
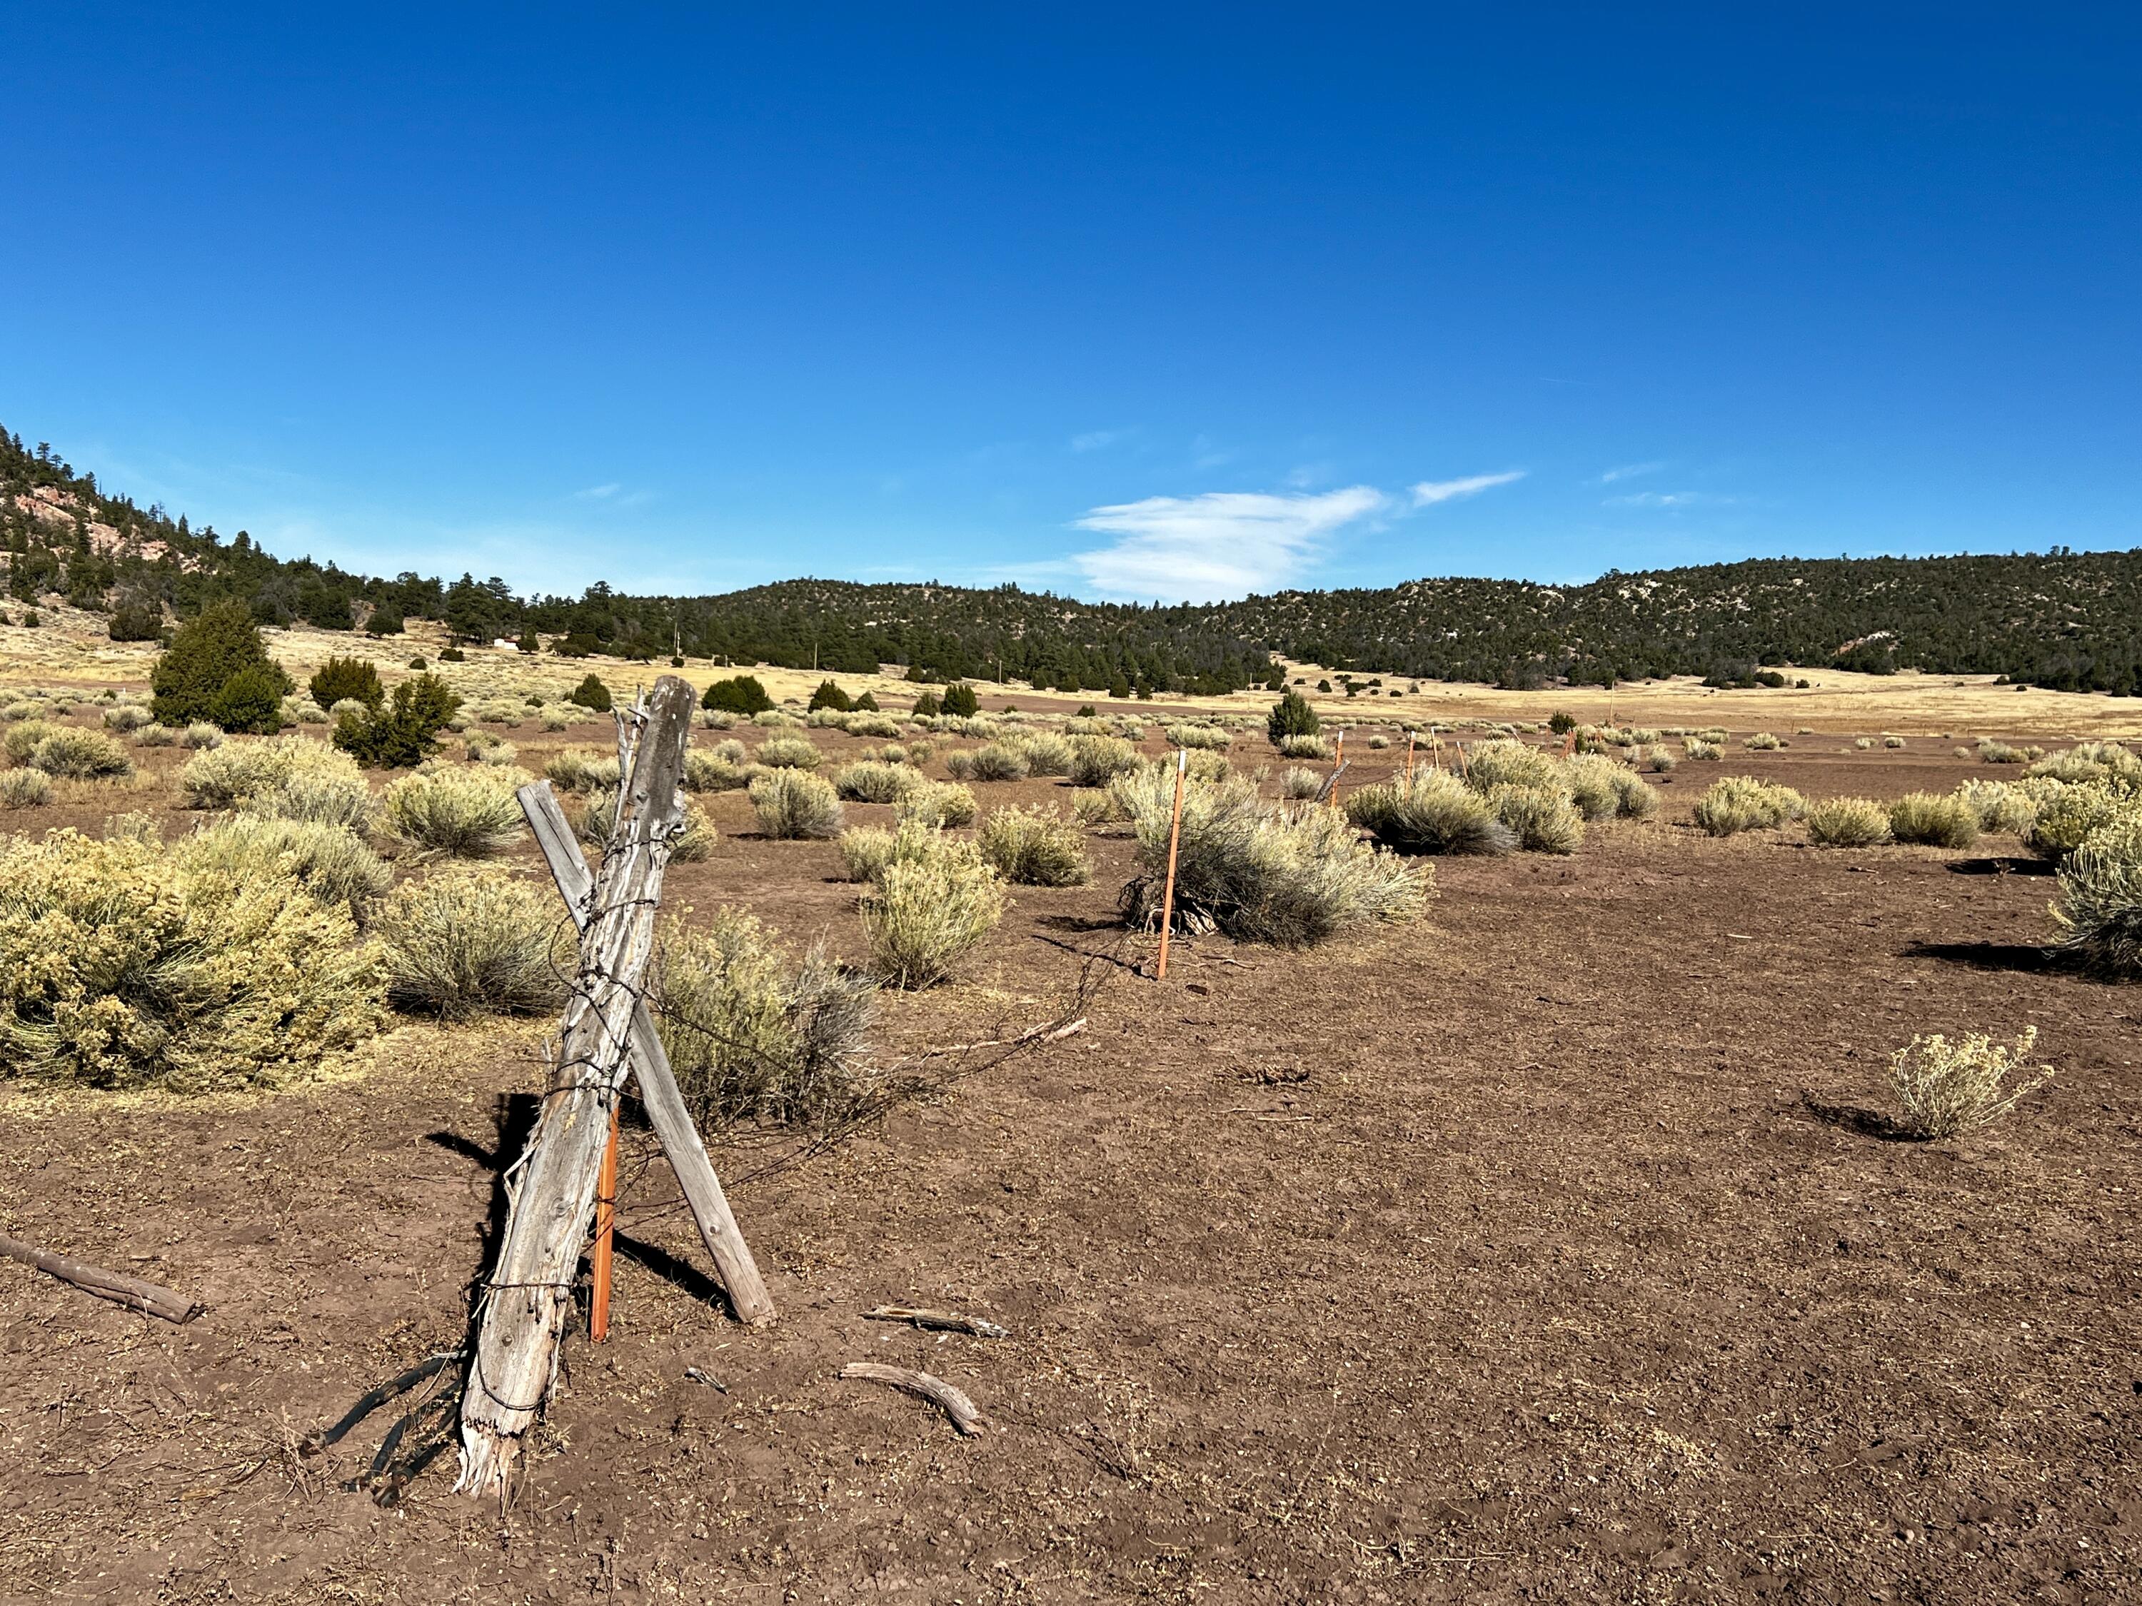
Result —
M 1296 580 L 1339 529 L 1390 507 L 1373 486 L 1319 495 L 1208 490 L 1095 507 L 1080 529 L 1114 535 L 1071 561 L 1116 597 L 1215 602 Z

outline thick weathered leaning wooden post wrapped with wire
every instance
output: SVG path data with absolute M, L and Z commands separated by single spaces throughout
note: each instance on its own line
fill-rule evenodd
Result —
M 692 687 L 655 681 L 617 792 L 617 831 L 595 872 L 580 964 L 565 1000 L 553 1086 L 527 1150 L 508 1171 L 506 1238 L 486 1278 L 461 1396 L 461 1480 L 503 1493 L 529 1428 L 557 1388 L 574 1270 L 595 1212 L 610 1109 L 630 1069 L 632 1015 L 653 949 L 662 872 L 681 822 L 677 779 Z M 518 1188 L 512 1186 L 518 1171 Z

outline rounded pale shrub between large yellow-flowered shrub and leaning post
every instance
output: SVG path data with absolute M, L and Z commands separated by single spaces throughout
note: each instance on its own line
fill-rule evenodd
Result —
M 499 869 L 456 865 L 403 882 L 373 929 L 388 1002 L 450 1021 L 548 1015 L 578 959 L 563 904 Z

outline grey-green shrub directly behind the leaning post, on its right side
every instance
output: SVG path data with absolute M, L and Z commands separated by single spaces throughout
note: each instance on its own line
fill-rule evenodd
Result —
M 649 968 L 655 1030 L 700 1131 L 823 1124 L 872 1088 L 861 1062 L 876 987 L 823 946 L 795 961 L 737 908 L 670 921 Z

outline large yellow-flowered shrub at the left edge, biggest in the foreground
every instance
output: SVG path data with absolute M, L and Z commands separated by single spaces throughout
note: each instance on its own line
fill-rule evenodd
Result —
M 137 835 L 0 842 L 0 1064 L 92 1088 L 274 1086 L 379 1024 L 379 955 L 293 876 Z

